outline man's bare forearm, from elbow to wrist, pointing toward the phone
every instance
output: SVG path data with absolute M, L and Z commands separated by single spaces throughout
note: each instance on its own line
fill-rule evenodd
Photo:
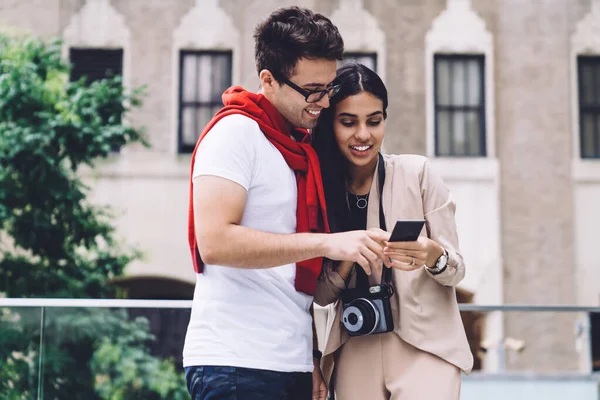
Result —
M 325 234 L 277 234 L 231 224 L 197 237 L 205 263 L 236 268 L 272 268 L 326 253 Z

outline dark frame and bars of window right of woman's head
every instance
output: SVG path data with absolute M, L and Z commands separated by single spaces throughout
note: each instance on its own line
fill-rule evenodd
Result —
M 479 90 L 480 90 L 480 102 L 477 106 L 467 106 L 467 105 L 441 105 L 439 104 L 439 93 L 438 93 L 438 61 L 446 60 L 450 62 L 450 76 L 452 76 L 452 63 L 455 61 L 476 61 L 480 70 L 479 76 Z M 467 70 L 465 69 L 465 81 L 467 82 L 468 75 Z M 433 113 L 434 113 L 434 155 L 435 157 L 450 157 L 450 158 L 486 158 L 488 157 L 488 149 L 487 149 L 487 118 L 486 118 L 486 56 L 485 54 L 459 54 L 459 53 L 435 53 L 433 55 Z M 452 88 L 452 86 L 451 86 Z M 468 89 L 465 90 L 465 97 L 468 96 Z M 450 90 L 450 97 L 452 97 L 452 90 Z M 465 102 L 466 103 L 466 102 Z M 476 154 L 469 154 L 467 151 L 464 154 L 456 154 L 454 145 L 454 127 L 451 124 L 451 138 L 450 138 L 450 154 L 441 154 L 440 153 L 440 137 L 439 137 L 439 111 L 446 111 L 454 115 L 454 113 L 464 113 L 464 112 L 478 112 L 480 124 L 479 124 L 479 151 Z M 465 136 L 468 139 L 468 135 Z M 468 149 L 469 141 L 465 141 L 465 149 Z

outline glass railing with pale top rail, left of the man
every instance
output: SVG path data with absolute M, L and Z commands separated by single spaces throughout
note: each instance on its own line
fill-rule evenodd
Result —
M 0 299 L 0 399 L 189 399 L 190 301 Z

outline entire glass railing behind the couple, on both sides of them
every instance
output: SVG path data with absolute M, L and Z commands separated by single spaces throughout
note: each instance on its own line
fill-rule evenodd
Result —
M 0 298 L 0 399 L 189 399 L 190 307 Z M 460 307 L 475 359 L 461 400 L 600 400 L 600 307 Z M 319 324 L 326 318 L 318 308 Z

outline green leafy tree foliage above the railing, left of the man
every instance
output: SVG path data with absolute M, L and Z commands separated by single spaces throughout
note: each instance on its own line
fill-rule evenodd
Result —
M 120 78 L 68 81 L 60 43 L 0 36 L 0 292 L 112 297 L 106 278 L 136 257 L 115 241 L 107 209 L 86 201 L 78 178 L 111 149 L 142 142 L 121 123 L 140 104 Z M 129 106 L 126 106 L 129 104 Z

